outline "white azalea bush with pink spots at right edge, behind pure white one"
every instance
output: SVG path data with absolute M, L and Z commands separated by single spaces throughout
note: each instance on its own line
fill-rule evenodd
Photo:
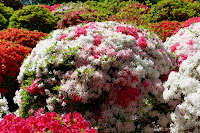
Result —
M 174 56 L 179 66 L 188 56 L 200 50 L 200 23 L 191 24 L 180 29 L 175 35 L 167 38 L 163 45 Z

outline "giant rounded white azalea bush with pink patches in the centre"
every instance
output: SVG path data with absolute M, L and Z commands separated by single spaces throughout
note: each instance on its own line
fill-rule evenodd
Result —
M 171 121 L 162 80 L 172 69 L 146 30 L 111 21 L 58 29 L 24 60 L 14 101 L 22 117 L 43 107 L 77 111 L 100 132 L 152 132 Z

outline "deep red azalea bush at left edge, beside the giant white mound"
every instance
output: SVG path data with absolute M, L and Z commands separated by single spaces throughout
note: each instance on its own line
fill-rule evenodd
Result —
M 10 111 L 16 109 L 12 98 L 14 92 L 19 89 L 16 81 L 19 68 L 30 52 L 28 47 L 0 40 L 0 93 L 8 99 Z

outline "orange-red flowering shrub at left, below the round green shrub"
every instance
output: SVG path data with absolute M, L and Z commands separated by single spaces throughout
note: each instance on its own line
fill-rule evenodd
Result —
M 21 44 L 30 48 L 34 48 L 42 37 L 47 34 L 38 31 L 29 31 L 26 29 L 7 28 L 0 31 L 0 39 Z

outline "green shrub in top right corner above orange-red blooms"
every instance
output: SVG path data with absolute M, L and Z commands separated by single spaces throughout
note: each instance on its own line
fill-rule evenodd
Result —
M 191 17 L 200 15 L 200 4 L 191 0 L 162 0 L 152 5 L 151 10 L 145 16 L 147 22 L 185 21 Z

